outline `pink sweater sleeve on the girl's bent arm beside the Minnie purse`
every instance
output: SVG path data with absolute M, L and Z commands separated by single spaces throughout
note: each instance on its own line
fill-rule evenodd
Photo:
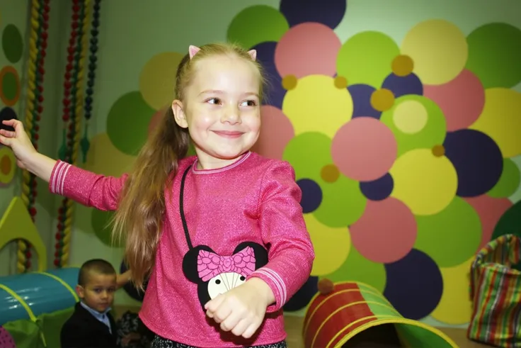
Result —
M 315 254 L 294 169 L 287 162 L 277 162 L 268 169 L 262 186 L 259 223 L 269 261 L 251 276 L 263 279 L 273 291 L 271 313 L 280 310 L 307 281 Z

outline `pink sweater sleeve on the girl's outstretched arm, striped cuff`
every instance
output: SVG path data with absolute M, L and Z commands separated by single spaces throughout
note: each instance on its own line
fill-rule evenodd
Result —
M 49 189 L 84 206 L 100 211 L 115 211 L 127 174 L 120 178 L 103 176 L 57 161 L 52 169 Z

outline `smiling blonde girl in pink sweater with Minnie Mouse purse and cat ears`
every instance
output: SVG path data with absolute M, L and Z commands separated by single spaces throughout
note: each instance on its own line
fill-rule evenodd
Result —
M 151 272 L 140 318 L 152 347 L 286 347 L 282 306 L 314 249 L 287 162 L 250 152 L 263 75 L 255 50 L 189 47 L 176 100 L 132 173 L 96 175 L 36 152 L 18 120 L 0 131 L 18 166 L 52 193 L 115 211 L 132 279 Z M 184 158 L 190 140 L 197 156 Z

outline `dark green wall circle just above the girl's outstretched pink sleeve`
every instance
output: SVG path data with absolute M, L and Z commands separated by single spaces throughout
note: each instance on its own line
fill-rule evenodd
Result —
M 147 141 L 149 123 L 155 112 L 139 91 L 123 94 L 108 112 L 110 142 L 127 155 L 137 155 Z

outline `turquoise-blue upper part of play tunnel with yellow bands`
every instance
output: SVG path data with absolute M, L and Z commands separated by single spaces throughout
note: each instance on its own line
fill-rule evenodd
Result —
M 0 326 L 72 307 L 79 298 L 79 268 L 53 269 L 0 277 Z

